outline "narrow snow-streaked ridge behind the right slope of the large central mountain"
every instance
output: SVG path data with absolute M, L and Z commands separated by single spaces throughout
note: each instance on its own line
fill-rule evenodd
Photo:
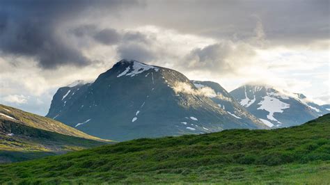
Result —
M 246 111 L 246 109 L 241 106 L 234 97 L 230 95 L 219 83 L 213 81 L 196 81 L 193 80 L 191 83 L 194 83 L 196 88 L 210 88 L 212 93 L 209 97 L 214 103 L 216 103 L 223 111 L 226 111 L 235 118 L 239 118 L 246 122 L 252 120 L 253 122 L 260 122 L 258 118 Z

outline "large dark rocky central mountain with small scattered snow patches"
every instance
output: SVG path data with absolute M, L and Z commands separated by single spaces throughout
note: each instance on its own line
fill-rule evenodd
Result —
M 59 88 L 47 117 L 113 140 L 267 128 L 235 118 L 208 93 L 175 70 L 122 60 L 93 83 Z

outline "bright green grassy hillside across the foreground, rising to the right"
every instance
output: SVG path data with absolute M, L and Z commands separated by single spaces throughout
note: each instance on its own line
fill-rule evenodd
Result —
M 0 166 L 0 183 L 330 182 L 330 114 L 298 127 L 139 139 Z

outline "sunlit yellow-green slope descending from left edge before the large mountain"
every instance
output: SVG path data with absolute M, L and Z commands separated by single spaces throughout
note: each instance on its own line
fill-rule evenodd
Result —
M 55 120 L 0 104 L 0 163 L 36 159 L 110 143 Z

